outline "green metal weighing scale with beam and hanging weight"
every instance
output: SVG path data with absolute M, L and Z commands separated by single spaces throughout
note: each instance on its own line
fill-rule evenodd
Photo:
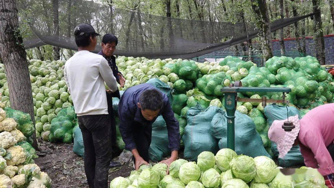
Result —
M 236 102 L 258 102 L 262 103 L 263 107 L 267 106 L 267 103 L 285 103 L 289 101 L 285 100 L 285 93 L 291 92 L 291 88 L 288 87 L 242 87 L 241 81 L 235 81 L 228 87 L 223 87 L 220 90 L 224 93 L 225 98 L 225 109 L 227 112 L 227 148 L 235 150 L 235 134 L 234 134 L 234 119 Z M 237 97 L 238 92 L 282 92 L 282 100 L 267 99 L 263 96 L 262 99 L 243 99 Z M 289 117 L 288 117 L 289 118 Z M 292 122 L 286 121 L 282 128 L 286 132 L 292 131 L 295 128 Z

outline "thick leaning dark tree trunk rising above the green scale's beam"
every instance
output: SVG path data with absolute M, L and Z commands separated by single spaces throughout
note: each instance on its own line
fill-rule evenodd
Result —
M 273 57 L 272 43 L 271 43 L 271 32 L 270 32 L 270 22 L 267 9 L 266 0 L 251 0 L 252 8 L 257 16 L 256 25 L 260 30 L 260 35 L 262 39 L 262 50 L 265 60 Z

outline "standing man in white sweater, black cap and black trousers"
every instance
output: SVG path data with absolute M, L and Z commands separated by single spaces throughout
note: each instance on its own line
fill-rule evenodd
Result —
M 91 52 L 95 50 L 98 35 L 89 24 L 75 27 L 78 52 L 66 61 L 64 78 L 82 132 L 88 185 L 107 188 L 112 150 L 105 82 L 110 92 L 117 90 L 117 82 L 108 61 Z

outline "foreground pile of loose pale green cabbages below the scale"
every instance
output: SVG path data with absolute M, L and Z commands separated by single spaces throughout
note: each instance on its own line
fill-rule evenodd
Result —
M 129 177 L 117 177 L 110 188 L 293 188 L 325 187 L 316 169 L 303 169 L 292 176 L 283 175 L 275 162 L 265 156 L 256 158 L 221 149 L 214 155 L 202 152 L 197 163 L 178 159 L 169 167 L 158 163 L 142 165 Z

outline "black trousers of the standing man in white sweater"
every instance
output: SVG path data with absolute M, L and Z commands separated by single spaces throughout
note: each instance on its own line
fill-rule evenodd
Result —
M 108 187 L 111 161 L 111 127 L 108 115 L 79 116 L 85 148 L 85 173 L 90 188 Z

